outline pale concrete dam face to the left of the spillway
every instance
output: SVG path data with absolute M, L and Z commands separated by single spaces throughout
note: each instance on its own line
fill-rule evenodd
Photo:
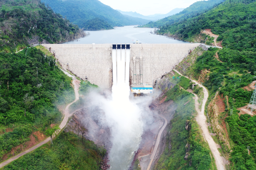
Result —
M 43 44 L 63 68 L 103 88 L 112 85 L 111 44 Z

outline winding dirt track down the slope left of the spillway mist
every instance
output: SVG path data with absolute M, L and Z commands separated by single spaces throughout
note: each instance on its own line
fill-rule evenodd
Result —
M 79 93 L 78 93 L 78 91 L 79 91 L 79 84 L 80 84 L 80 81 L 77 80 L 77 79 L 74 79 L 72 83 L 73 83 L 73 85 L 74 85 L 74 91 L 75 91 L 76 99 L 75 99 L 73 102 L 71 102 L 70 104 L 68 104 L 68 105 L 66 106 L 66 108 L 65 108 L 65 110 L 64 110 L 64 113 L 63 113 L 63 114 L 64 114 L 64 119 L 62 120 L 61 125 L 59 126 L 61 129 L 67 124 L 68 118 L 72 115 L 72 114 L 69 113 L 68 108 L 70 107 L 70 105 L 72 105 L 74 102 L 76 102 L 76 101 L 79 99 Z M 46 143 L 49 142 L 49 141 L 50 141 L 50 137 L 48 137 L 48 138 L 45 139 L 44 141 L 42 141 L 42 142 L 36 144 L 35 146 L 30 147 L 28 150 L 25 150 L 24 152 L 19 153 L 19 154 L 17 154 L 16 156 L 13 156 L 13 157 L 10 158 L 10 159 L 7 159 L 6 161 L 4 161 L 4 162 L 2 162 L 2 163 L 0 164 L 0 168 L 6 166 L 6 165 L 9 164 L 10 162 L 12 162 L 12 161 L 18 159 L 20 156 L 23 156 L 23 155 L 25 155 L 26 153 L 29 153 L 29 152 L 35 150 L 36 148 L 42 146 L 43 144 L 46 144 Z

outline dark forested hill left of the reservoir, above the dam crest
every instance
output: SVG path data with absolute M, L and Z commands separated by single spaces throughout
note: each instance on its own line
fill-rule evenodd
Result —
M 0 2 L 0 51 L 14 52 L 40 42 L 58 43 L 84 36 L 78 26 L 47 9 L 40 0 Z

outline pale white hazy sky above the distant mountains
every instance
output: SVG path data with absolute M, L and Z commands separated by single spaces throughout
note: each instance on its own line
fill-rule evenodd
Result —
M 174 8 L 186 8 L 199 0 L 99 0 L 113 9 L 143 15 L 167 14 Z

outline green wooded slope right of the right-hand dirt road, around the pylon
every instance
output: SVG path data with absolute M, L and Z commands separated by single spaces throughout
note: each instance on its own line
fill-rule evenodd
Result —
M 233 145 L 229 148 L 227 143 L 221 140 L 217 142 L 221 145 L 221 152 L 230 158 L 230 169 L 254 170 L 256 168 L 254 144 L 256 123 L 254 116 L 240 115 L 238 110 L 250 102 L 252 91 L 245 90 L 244 87 L 255 80 L 253 78 L 255 77 L 254 58 L 250 58 L 250 55 L 244 57 L 245 59 L 231 55 L 233 51 L 228 48 L 222 50 L 209 48 L 208 51 L 199 54 L 194 63 L 191 62 L 192 57 L 187 57 L 177 67 L 180 71 L 183 70 L 181 68 L 185 68 L 184 75 L 202 81 L 209 90 L 209 102 L 216 92 L 219 92 L 221 96 L 226 96 L 223 99 L 225 111 L 220 113 L 218 120 L 224 121 L 227 125 L 229 136 L 227 140 L 230 145 Z M 216 59 L 216 54 L 218 54 L 219 60 Z M 193 52 L 190 55 L 194 55 Z M 207 74 L 202 77 L 202 73 Z M 233 109 L 232 115 L 230 114 L 231 109 Z M 214 118 L 211 117 L 211 112 L 209 115 L 210 119 Z M 248 155 L 247 146 L 250 146 L 250 155 Z

